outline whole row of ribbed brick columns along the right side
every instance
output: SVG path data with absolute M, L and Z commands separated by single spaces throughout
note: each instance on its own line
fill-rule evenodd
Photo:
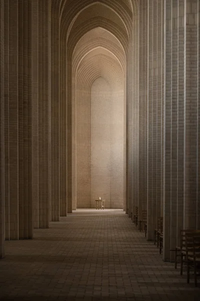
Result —
M 133 152 L 139 195 L 133 195 L 132 212 L 137 206 L 140 219 L 147 210 L 148 240 L 163 216 L 164 260 L 172 260 L 180 229 L 200 227 L 199 6 L 198 0 L 139 2 L 139 121 L 133 130 L 139 135 L 139 157 Z

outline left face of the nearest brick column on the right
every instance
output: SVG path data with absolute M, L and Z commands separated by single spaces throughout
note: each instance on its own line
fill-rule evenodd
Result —
M 177 1 L 165 2 L 165 141 L 164 141 L 164 207 L 163 259 L 170 259 L 171 241 L 176 233 L 177 189 Z

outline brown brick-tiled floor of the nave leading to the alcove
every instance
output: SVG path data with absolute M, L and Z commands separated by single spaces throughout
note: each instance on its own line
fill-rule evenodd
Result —
M 122 210 L 77 210 L 5 251 L 0 300 L 200 300 L 199 284 L 163 262 Z

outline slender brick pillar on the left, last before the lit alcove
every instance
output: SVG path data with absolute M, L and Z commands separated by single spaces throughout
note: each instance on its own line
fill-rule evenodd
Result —
M 68 65 L 68 58 L 66 54 L 66 32 L 65 27 L 60 28 L 60 64 L 59 64 L 59 73 L 60 73 L 60 109 L 62 109 L 62 113 L 60 115 L 60 165 L 62 165 L 60 170 L 60 189 L 61 197 L 60 201 L 62 202 L 62 214 L 63 216 L 66 216 L 66 213 L 72 213 L 72 181 L 75 181 L 75 178 L 72 180 L 72 144 L 69 143 L 70 140 L 70 131 L 71 131 L 71 125 L 70 128 L 68 128 L 68 114 L 72 114 L 72 109 L 68 111 L 68 92 L 71 91 L 72 85 L 70 85 L 69 81 L 71 80 L 72 73 L 69 71 L 71 70 L 70 65 Z M 71 54 L 72 55 L 72 54 Z M 67 66 L 66 67 L 66 62 Z M 67 68 L 67 69 L 66 69 Z M 67 75 L 67 73 L 69 74 Z M 67 88 L 66 88 L 67 83 Z M 70 91 L 68 91 L 70 90 Z M 70 92 L 71 93 L 71 92 Z M 73 102 L 74 105 L 74 102 Z M 68 112 L 68 113 L 67 113 Z M 71 116 L 72 118 L 72 116 Z M 69 138 L 69 139 L 68 139 Z M 71 138 L 72 143 L 72 138 Z M 71 166 L 71 168 L 70 168 Z M 73 161 L 73 168 L 74 168 L 74 161 Z M 74 174 L 73 174 L 74 175 Z M 73 190 L 73 196 L 74 190 Z M 73 209 L 76 209 L 76 197 L 73 199 Z

